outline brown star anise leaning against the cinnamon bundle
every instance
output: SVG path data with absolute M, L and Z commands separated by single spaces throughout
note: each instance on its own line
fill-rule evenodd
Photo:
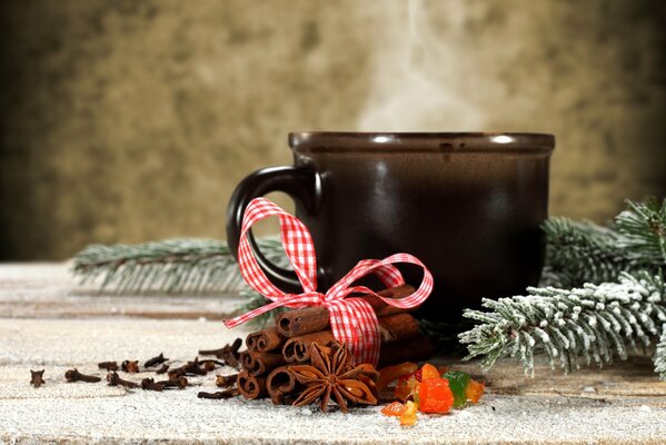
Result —
M 359 379 L 366 375 L 364 366 L 352 366 L 346 345 L 339 347 L 310 346 L 310 365 L 295 365 L 289 369 L 296 379 L 306 386 L 294 406 L 304 406 L 320 400 L 320 409 L 326 413 L 331 396 L 340 411 L 347 413 L 348 402 L 376 405 L 377 397 Z

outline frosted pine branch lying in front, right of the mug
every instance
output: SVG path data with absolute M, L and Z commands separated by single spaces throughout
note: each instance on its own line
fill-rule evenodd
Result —
M 505 356 L 517 358 L 534 375 L 534 356 L 545 353 L 551 368 L 559 362 L 565 373 L 587 365 L 625 359 L 627 348 L 644 348 L 662 334 L 654 362 L 666 377 L 666 296 L 662 275 L 623 273 L 617 283 L 585 285 L 577 289 L 528 288 L 527 296 L 484 299 L 489 309 L 465 310 L 480 322 L 459 335 L 467 359 L 483 356 L 490 368 Z

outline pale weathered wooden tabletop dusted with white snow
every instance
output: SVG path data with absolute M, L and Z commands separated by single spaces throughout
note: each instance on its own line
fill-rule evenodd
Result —
M 219 322 L 239 303 L 237 295 L 99 295 L 78 287 L 66 264 L 0 266 L 0 443 L 666 443 L 666 383 L 642 355 L 568 376 L 541 363 L 535 378 L 508 359 L 485 376 L 476 363 L 454 363 L 481 377 L 488 394 L 465 411 L 423 416 L 412 428 L 378 407 L 321 415 L 196 398 L 215 390 L 213 376 L 169 393 L 64 383 L 69 367 L 99 374 L 97 362 L 160 352 L 187 360 L 242 337 L 247 330 Z M 47 379 L 38 389 L 28 384 L 37 368 Z

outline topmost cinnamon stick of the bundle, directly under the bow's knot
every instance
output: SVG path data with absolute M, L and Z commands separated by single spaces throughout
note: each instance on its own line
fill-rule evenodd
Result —
M 391 287 L 389 289 L 377 293 L 384 298 L 404 298 L 411 295 L 415 291 L 414 287 L 409 285 L 401 285 Z M 364 298 L 372 306 L 377 317 L 385 317 L 388 315 L 402 314 L 416 308 L 399 308 L 387 305 L 380 298 L 371 295 L 361 295 L 358 298 Z M 289 310 L 280 314 L 276 322 L 277 330 L 285 337 L 296 337 L 299 335 L 317 333 L 329 328 L 329 314 L 326 308 L 322 307 L 308 307 L 305 309 Z

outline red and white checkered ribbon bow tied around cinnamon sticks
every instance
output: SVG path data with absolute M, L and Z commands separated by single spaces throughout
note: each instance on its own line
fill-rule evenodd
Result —
M 247 233 L 255 222 L 271 216 L 277 216 L 280 220 L 282 246 L 302 286 L 302 294 L 285 294 L 278 289 L 268 280 L 252 255 Z M 409 263 L 424 268 L 424 278 L 414 294 L 405 298 L 392 299 L 382 298 L 365 286 L 350 287 L 354 281 L 370 273 L 376 274 L 387 287 L 405 284 L 402 275 L 392 265 L 394 263 Z M 298 218 L 266 198 L 252 199 L 245 211 L 238 246 L 238 264 L 247 284 L 274 303 L 225 320 L 227 327 L 235 327 L 280 306 L 292 308 L 324 306 L 330 313 L 330 327 L 334 336 L 340 343 L 349 345 L 356 363 L 377 365 L 381 338 L 379 323 L 372 307 L 361 298 L 346 298 L 349 294 L 370 294 L 381 298 L 388 305 L 410 308 L 424 303 L 433 290 L 433 275 L 418 258 L 408 254 L 395 254 L 381 260 L 364 259 L 359 261 L 326 294 L 318 293 L 317 259 L 310 231 Z

